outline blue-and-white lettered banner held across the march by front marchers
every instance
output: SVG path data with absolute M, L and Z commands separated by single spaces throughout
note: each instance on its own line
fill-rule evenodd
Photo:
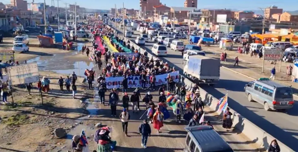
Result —
M 168 74 L 170 74 L 170 76 L 173 78 L 173 80 L 175 82 L 179 81 L 179 71 L 174 71 L 171 73 L 156 75 L 155 76 L 156 77 L 155 86 L 167 84 L 166 78 L 167 78 Z M 128 87 L 129 88 L 137 88 L 137 87 L 142 86 L 140 76 L 131 76 L 131 77 L 127 77 L 127 78 L 128 78 Z M 121 82 L 123 79 L 124 79 L 124 77 L 106 77 L 105 83 L 107 84 L 108 89 L 120 88 Z M 147 77 L 146 80 L 147 80 L 146 87 L 149 87 L 150 86 L 149 77 Z

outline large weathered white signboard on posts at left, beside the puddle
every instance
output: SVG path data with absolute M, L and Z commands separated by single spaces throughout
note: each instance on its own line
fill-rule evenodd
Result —
M 36 62 L 7 67 L 9 85 L 26 84 L 39 80 Z

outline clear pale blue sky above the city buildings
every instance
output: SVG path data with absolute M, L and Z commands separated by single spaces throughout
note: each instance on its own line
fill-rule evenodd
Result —
M 10 0 L 0 0 L 0 2 L 9 3 Z M 27 2 L 32 2 L 32 0 L 27 0 Z M 35 0 L 35 2 L 44 2 L 44 0 Z M 114 8 L 115 4 L 117 5 L 117 8 L 120 8 L 124 2 L 125 8 L 139 9 L 139 0 L 60 0 L 59 6 L 65 6 L 63 3 L 74 4 L 74 2 L 77 2 L 77 5 L 84 8 L 106 10 Z M 183 7 L 184 5 L 184 0 L 160 0 L 160 2 L 169 7 Z M 51 0 L 46 0 L 46 3 L 47 5 L 51 4 Z M 298 0 L 198 0 L 198 3 L 198 8 L 256 10 L 258 8 L 265 8 L 269 5 L 276 5 L 278 8 L 283 8 L 287 11 L 298 10 Z M 57 0 L 55 0 L 55 5 L 57 5 Z

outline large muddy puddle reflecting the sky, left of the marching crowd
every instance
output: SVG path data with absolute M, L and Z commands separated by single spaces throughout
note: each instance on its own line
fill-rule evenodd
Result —
M 57 53 L 53 56 L 38 56 L 30 59 L 27 63 L 37 62 L 39 70 L 54 71 L 62 74 L 71 74 L 73 71 L 78 75 L 84 77 L 86 69 L 94 67 L 93 62 L 84 61 L 67 61 L 65 56 L 75 55 L 77 52 Z

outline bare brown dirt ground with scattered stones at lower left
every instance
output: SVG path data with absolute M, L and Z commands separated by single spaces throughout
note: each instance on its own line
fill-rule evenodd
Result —
M 0 151 L 51 151 L 61 144 L 53 130 L 57 127 L 69 130 L 76 118 L 88 114 L 81 101 L 88 98 L 90 92 L 86 90 L 84 78 L 78 77 L 76 98 L 72 99 L 71 93 L 60 92 L 58 85 L 58 77 L 65 78 L 66 74 L 40 71 L 40 76 L 44 75 L 51 84 L 49 93 L 43 94 L 43 105 L 36 84 L 33 84 L 31 95 L 21 86 L 14 87 L 14 104 L 0 105 Z M 10 96 L 8 102 L 11 101 Z

